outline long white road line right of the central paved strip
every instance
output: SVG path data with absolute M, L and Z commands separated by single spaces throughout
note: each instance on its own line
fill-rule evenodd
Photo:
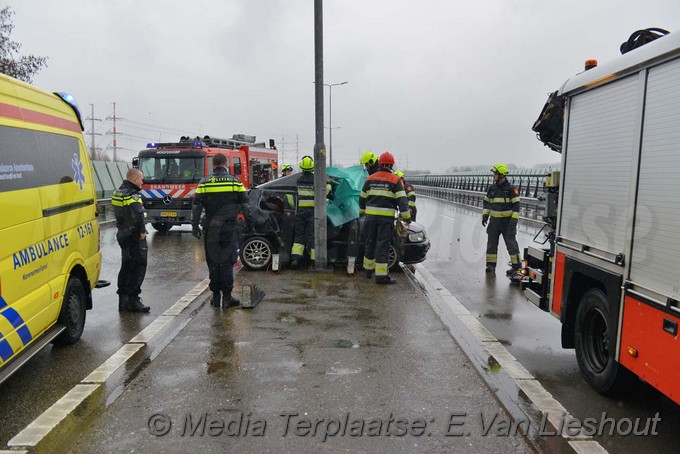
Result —
M 491 334 L 491 332 L 489 332 L 489 330 L 487 330 L 486 327 L 484 327 L 481 322 L 479 322 L 479 320 L 477 320 L 477 318 L 472 315 L 472 313 L 470 313 L 470 311 L 468 311 L 467 308 L 465 308 L 465 306 L 463 306 L 463 304 L 458 301 L 458 299 L 451 294 L 451 292 L 448 291 L 427 268 L 425 268 L 422 263 L 415 265 L 415 269 L 420 275 L 420 278 L 415 273 L 413 274 L 413 277 L 425 288 L 427 292 L 426 295 L 436 295 L 444 303 L 437 305 L 428 298 L 428 302 L 434 311 L 437 314 L 440 314 L 437 306 L 449 309 L 451 314 L 447 314 L 447 316 L 457 317 L 458 320 L 475 335 L 486 351 L 496 358 L 501 367 L 505 369 L 506 373 L 515 381 L 516 386 L 527 395 L 529 400 L 536 405 L 541 413 L 547 415 L 548 421 L 550 421 L 555 428 L 561 427 L 563 421 L 573 419 L 573 416 L 567 412 L 562 404 L 560 404 L 559 401 L 555 399 L 519 361 L 517 361 L 508 349 L 506 349 L 498 339 L 496 339 L 493 334 Z M 440 314 L 440 319 L 442 322 L 445 325 L 448 325 L 441 315 L 442 314 Z M 481 328 L 478 325 L 481 325 Z M 448 326 L 448 328 L 449 331 L 453 332 L 451 326 Z M 566 431 L 563 431 L 561 436 L 566 440 L 571 440 L 569 441 L 569 445 L 579 454 L 607 453 L 607 450 L 595 440 L 582 441 L 583 439 L 591 438 L 583 434 L 583 429 L 576 435 L 570 435 L 566 433 Z

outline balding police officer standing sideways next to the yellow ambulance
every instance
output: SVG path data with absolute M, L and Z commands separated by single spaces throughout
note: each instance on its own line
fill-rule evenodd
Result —
M 122 260 L 118 273 L 118 310 L 149 312 L 149 306 L 142 304 L 142 282 L 146 274 L 146 226 L 144 206 L 139 197 L 144 174 L 139 169 L 130 169 L 123 184 L 113 191 L 111 205 L 116 216 Z

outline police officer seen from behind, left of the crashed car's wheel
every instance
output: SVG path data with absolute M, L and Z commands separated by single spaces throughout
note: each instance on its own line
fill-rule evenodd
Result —
M 213 174 L 203 177 L 196 188 L 191 212 L 192 234 L 201 238 L 199 222 L 205 208 L 203 222 L 205 260 L 208 264 L 211 304 L 215 307 L 238 306 L 240 301 L 231 296 L 234 288 L 234 264 L 237 256 L 236 217 L 239 212 L 247 218 L 250 205 L 243 183 L 226 169 L 227 157 L 217 153 L 213 157 Z

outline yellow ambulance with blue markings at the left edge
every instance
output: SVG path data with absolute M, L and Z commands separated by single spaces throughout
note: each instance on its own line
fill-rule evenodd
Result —
M 76 342 L 99 283 L 94 171 L 72 96 L 0 74 L 0 383 Z

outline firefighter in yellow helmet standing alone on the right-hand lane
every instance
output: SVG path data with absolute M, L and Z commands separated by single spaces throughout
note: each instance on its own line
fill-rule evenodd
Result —
M 503 241 L 510 254 L 512 267 L 505 274 L 511 276 L 520 268 L 517 222 L 519 221 L 519 191 L 507 179 L 508 166 L 496 164 L 491 169 L 494 183 L 484 197 L 482 211 L 482 225 L 486 227 L 488 235 L 486 243 L 486 272 L 496 272 L 498 252 L 498 238 L 503 235 Z M 490 219 L 489 219 L 490 218 Z

